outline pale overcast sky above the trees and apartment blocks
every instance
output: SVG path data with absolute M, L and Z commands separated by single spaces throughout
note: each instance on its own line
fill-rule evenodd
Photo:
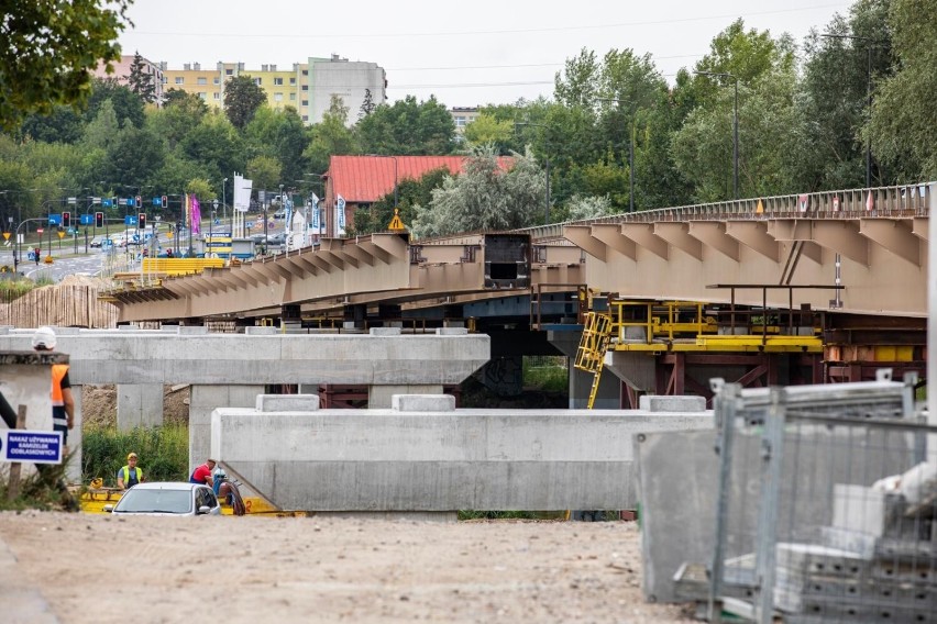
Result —
M 219 60 L 277 68 L 338 54 L 387 73 L 390 102 L 436 94 L 447 107 L 552 99 L 567 58 L 587 48 L 650 53 L 669 81 L 692 65 L 734 20 L 747 29 L 792 34 L 823 31 L 852 1 L 815 0 L 136 0 L 134 27 L 120 37 L 169 68 Z

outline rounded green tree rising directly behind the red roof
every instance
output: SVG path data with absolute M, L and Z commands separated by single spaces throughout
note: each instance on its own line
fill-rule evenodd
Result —
M 356 131 L 365 154 L 442 156 L 455 147 L 455 122 L 434 97 L 418 103 L 407 96 L 393 105 L 379 104 Z

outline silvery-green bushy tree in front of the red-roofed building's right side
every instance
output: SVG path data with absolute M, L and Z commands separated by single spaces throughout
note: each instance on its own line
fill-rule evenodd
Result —
M 537 222 L 543 208 L 545 179 L 530 153 L 515 154 L 510 171 L 498 166 L 490 146 L 473 151 L 463 171 L 447 177 L 432 191 L 428 207 L 415 207 L 417 237 L 477 230 L 512 230 Z

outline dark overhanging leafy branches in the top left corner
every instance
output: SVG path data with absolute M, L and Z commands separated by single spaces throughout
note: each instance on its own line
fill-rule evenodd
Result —
M 98 63 L 120 60 L 114 43 L 132 0 L 3 2 L 0 21 L 0 125 L 12 130 L 23 115 L 56 104 L 82 103 Z

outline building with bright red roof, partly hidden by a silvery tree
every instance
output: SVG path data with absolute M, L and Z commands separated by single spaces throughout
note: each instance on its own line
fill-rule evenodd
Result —
M 338 196 L 345 200 L 345 226 L 354 226 L 354 211 L 370 205 L 394 192 L 404 180 L 419 180 L 437 169 L 458 175 L 467 156 L 332 156 L 326 180 L 323 236 L 335 235 L 335 203 Z M 514 166 L 514 158 L 501 156 L 503 170 Z M 328 232 L 329 234 L 326 234 Z

